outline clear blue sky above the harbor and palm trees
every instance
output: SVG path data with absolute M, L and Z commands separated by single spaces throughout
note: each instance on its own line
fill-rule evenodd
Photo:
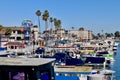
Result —
M 42 14 L 48 10 L 66 30 L 83 27 L 95 34 L 120 31 L 120 0 L 0 0 L 0 24 L 22 26 L 22 21 L 28 19 L 37 25 L 37 10 Z M 45 30 L 42 17 L 40 23 Z

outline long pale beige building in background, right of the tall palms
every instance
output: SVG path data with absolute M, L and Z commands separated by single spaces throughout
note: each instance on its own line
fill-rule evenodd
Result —
M 77 41 L 88 41 L 92 39 L 92 31 L 90 30 L 65 30 L 65 29 L 57 29 L 54 31 L 54 34 L 58 39 L 74 39 Z

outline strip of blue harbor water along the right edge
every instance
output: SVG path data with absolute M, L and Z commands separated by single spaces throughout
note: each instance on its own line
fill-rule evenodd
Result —
M 115 61 L 111 65 L 110 69 L 115 71 L 113 80 L 120 80 L 120 44 L 117 47 Z

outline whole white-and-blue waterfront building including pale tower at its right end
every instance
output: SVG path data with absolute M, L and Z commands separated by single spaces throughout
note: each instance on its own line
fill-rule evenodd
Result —
M 25 48 L 27 45 L 33 44 L 38 38 L 38 27 L 30 27 L 30 31 L 25 27 L 10 27 L 12 30 L 8 40 L 8 49 Z M 34 31 L 34 34 L 32 33 Z

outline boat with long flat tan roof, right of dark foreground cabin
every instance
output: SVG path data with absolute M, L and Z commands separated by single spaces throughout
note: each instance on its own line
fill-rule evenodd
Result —
M 87 80 L 87 75 L 91 74 L 92 67 L 88 66 L 55 66 L 55 76 L 76 77 L 75 80 Z M 64 80 L 64 79 L 61 79 Z M 69 79 L 66 79 L 69 80 Z M 71 80 L 71 79 L 70 79 Z

